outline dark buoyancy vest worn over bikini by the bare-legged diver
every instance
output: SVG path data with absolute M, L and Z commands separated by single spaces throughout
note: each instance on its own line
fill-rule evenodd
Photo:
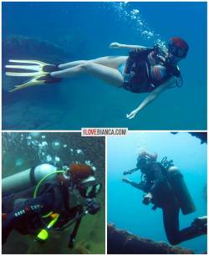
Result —
M 166 64 L 159 53 L 159 46 L 149 49 L 135 49 L 125 62 L 124 87 L 133 93 L 155 90 L 171 76 L 181 76 L 177 66 Z

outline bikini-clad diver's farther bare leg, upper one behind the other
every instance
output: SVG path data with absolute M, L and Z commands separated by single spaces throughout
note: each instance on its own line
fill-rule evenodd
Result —
M 85 64 L 87 62 L 93 62 L 96 64 L 101 64 L 101 65 L 110 67 L 112 69 L 118 69 L 120 65 L 125 62 L 127 58 L 128 58 L 127 56 L 107 56 L 107 57 L 102 57 L 98 59 L 77 60 L 77 61 L 72 61 L 66 64 L 59 64 L 59 69 L 69 69 L 74 66 Z

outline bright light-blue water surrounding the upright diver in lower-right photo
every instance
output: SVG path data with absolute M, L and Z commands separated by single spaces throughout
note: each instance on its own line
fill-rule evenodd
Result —
M 202 197 L 206 185 L 206 144 L 187 133 L 129 133 L 125 137 L 108 138 L 108 223 L 117 228 L 155 241 L 167 241 L 164 232 L 161 209 L 151 210 L 151 206 L 142 204 L 144 192 L 121 182 L 122 173 L 135 168 L 137 152 L 140 148 L 156 152 L 158 161 L 164 156 L 173 160 L 181 169 L 191 197 L 196 204 L 196 212 L 180 214 L 180 227 L 190 226 L 194 218 L 206 215 L 206 200 Z M 140 172 L 127 176 L 140 182 Z M 196 253 L 206 252 L 206 236 L 180 243 Z

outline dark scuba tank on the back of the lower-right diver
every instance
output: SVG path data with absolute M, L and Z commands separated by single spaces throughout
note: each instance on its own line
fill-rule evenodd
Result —
M 195 203 L 191 198 L 191 194 L 186 186 L 183 175 L 180 170 L 173 165 L 172 161 L 166 161 L 166 157 L 163 158 L 161 164 L 166 169 L 166 177 L 171 184 L 173 192 L 181 207 L 181 212 L 186 215 L 196 211 Z

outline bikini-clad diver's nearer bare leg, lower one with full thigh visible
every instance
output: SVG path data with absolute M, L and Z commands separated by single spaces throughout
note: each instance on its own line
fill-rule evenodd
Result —
M 73 68 L 51 73 L 51 75 L 56 78 L 73 77 L 78 74 L 91 74 L 94 77 L 98 77 L 99 79 L 102 79 L 116 87 L 122 86 L 124 80 L 123 76 L 117 69 L 113 69 L 102 64 L 96 64 L 94 62 L 86 62 L 85 64 L 80 64 Z

